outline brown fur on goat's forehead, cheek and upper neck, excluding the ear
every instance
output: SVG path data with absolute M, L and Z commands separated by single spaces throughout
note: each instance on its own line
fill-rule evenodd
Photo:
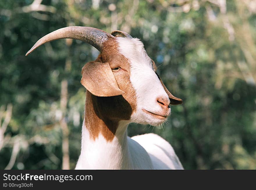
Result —
M 90 92 L 86 93 L 85 126 L 90 132 L 90 138 L 96 139 L 102 133 L 107 141 L 112 141 L 118 128 L 118 122 L 129 120 L 136 110 L 136 92 L 130 81 L 130 63 L 118 51 L 115 37 L 109 36 L 104 42 L 104 48 L 97 62 L 109 63 L 111 69 L 120 67 L 120 71 L 113 72 L 118 87 L 125 92 L 123 95 L 99 97 Z

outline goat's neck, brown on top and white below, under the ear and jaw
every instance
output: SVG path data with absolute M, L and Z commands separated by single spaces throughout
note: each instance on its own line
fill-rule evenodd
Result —
M 86 92 L 81 155 L 76 169 L 133 169 L 127 142 L 129 121 L 106 116 L 102 98 Z M 111 97 L 103 99 L 111 101 Z

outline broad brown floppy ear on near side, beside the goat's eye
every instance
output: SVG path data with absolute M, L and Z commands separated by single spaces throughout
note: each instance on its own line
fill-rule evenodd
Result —
M 109 63 L 88 62 L 82 68 L 81 84 L 95 96 L 118 96 L 119 89 Z

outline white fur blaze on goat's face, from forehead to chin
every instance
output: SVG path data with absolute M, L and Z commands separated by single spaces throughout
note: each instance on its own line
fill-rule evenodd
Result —
M 137 110 L 131 115 L 131 121 L 158 126 L 164 120 L 153 118 L 142 111 L 145 109 L 161 115 L 161 106 L 157 103 L 157 98 L 163 97 L 169 100 L 150 64 L 151 59 L 147 55 L 143 43 L 137 38 L 119 37 L 118 42 L 120 53 L 130 61 L 130 81 L 137 96 Z M 168 114 L 170 114 L 170 109 Z

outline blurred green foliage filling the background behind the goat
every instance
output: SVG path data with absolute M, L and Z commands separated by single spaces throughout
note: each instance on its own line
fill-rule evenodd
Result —
M 66 26 L 140 38 L 170 92 L 183 99 L 163 126 L 133 123 L 129 136 L 159 134 L 185 169 L 256 169 L 255 0 L 0 0 L 1 123 L 13 106 L 0 130 L 0 169 L 61 169 L 63 118 L 75 167 L 85 102 L 81 68 L 98 51 L 57 40 L 25 57 L 40 37 Z

